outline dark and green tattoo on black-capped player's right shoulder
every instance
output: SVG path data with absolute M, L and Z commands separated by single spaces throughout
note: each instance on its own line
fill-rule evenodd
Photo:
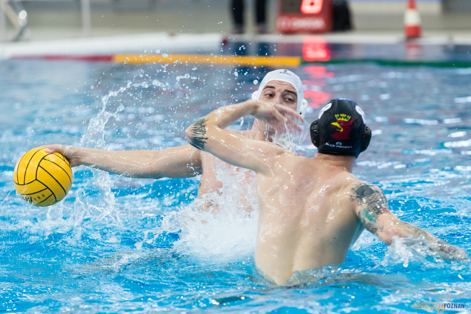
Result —
M 351 189 L 350 199 L 356 200 L 361 209 L 358 212 L 361 223 L 372 233 L 378 233 L 382 227 L 376 223 L 379 215 L 390 212 L 384 193 L 369 184 L 358 184 Z

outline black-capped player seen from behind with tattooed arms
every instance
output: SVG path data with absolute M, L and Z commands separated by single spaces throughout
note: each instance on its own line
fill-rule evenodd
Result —
M 401 221 L 388 209 L 382 190 L 358 180 L 351 169 L 369 144 L 365 113 L 353 101 L 334 99 L 311 125 L 317 158 L 296 156 L 279 145 L 253 140 L 224 128 L 252 114 L 282 130 L 302 117 L 286 106 L 247 101 L 219 108 L 186 132 L 193 145 L 237 167 L 255 171 L 259 222 L 255 263 L 278 285 L 300 283 L 302 271 L 342 264 L 366 228 L 386 244 L 422 238 L 425 251 L 444 259 L 465 259 L 462 249 Z M 293 276 L 294 272 L 301 272 Z M 311 277 L 312 278 L 312 277 Z

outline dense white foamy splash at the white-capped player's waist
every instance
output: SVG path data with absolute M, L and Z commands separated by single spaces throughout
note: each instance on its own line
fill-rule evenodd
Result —
M 253 254 L 257 235 L 256 213 L 241 211 L 237 203 L 224 203 L 218 193 L 209 193 L 179 211 L 163 217 L 162 225 L 146 230 L 144 239 L 135 246 L 140 249 L 146 242 L 154 242 L 162 233 L 179 232 L 173 251 L 201 262 L 227 263 Z M 211 199 L 219 204 L 217 214 L 205 211 L 202 206 Z

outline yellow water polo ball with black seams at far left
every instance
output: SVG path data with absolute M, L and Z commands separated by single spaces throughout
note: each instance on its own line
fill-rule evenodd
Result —
M 18 194 L 32 205 L 49 206 L 62 200 L 72 186 L 70 163 L 61 153 L 34 148 L 16 163 L 13 181 Z

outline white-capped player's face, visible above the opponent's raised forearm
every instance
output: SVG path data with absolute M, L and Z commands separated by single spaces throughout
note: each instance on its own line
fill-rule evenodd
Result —
M 296 89 L 284 81 L 269 81 L 263 88 L 259 100 L 285 105 L 292 110 L 296 110 L 298 106 Z

